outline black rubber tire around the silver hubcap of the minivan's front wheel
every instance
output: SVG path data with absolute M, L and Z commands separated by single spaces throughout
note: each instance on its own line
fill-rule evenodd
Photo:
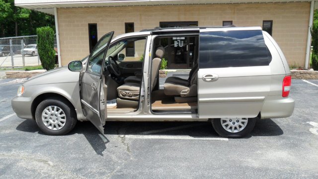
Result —
M 55 125 L 51 124 L 51 125 L 49 125 L 49 127 L 47 127 L 44 124 L 44 122 L 42 121 L 42 112 L 44 111 L 45 108 L 47 108 L 49 106 L 57 106 L 58 108 L 62 109 L 62 111 L 65 114 L 64 120 L 66 120 L 66 121 L 65 122 L 61 121 L 64 124 L 64 126 L 61 127 L 60 129 L 52 130 L 49 127 L 52 128 L 52 126 L 53 126 L 53 129 L 54 129 L 54 128 L 58 127 L 57 124 L 55 124 Z M 54 117 L 54 116 L 52 116 L 52 117 Z M 40 102 L 40 104 L 37 106 L 37 108 L 35 110 L 35 120 L 36 120 L 36 123 L 38 124 L 39 128 L 45 134 L 48 134 L 48 135 L 65 135 L 65 134 L 69 133 L 75 127 L 75 125 L 78 121 L 76 111 L 75 111 L 74 107 L 72 106 L 72 104 L 65 99 L 55 98 L 55 97 L 47 98 L 47 99 L 44 99 L 42 102 Z

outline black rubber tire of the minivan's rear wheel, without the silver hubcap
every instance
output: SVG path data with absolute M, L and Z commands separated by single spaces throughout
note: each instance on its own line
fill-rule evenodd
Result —
M 226 138 L 241 138 L 244 137 L 246 135 L 248 135 L 255 126 L 256 120 L 258 119 L 258 117 L 254 117 L 254 118 L 248 118 L 247 120 L 247 125 L 245 126 L 245 128 L 243 128 L 241 131 L 239 132 L 229 132 L 227 131 L 225 128 L 223 128 L 222 124 L 221 124 L 221 119 L 212 119 L 212 126 L 214 128 L 214 130 L 221 136 L 221 137 L 226 137 Z

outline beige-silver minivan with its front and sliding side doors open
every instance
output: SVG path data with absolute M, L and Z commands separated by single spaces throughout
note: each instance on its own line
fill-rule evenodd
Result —
M 220 136 L 238 138 L 256 120 L 293 113 L 289 66 L 260 27 L 113 34 L 101 37 L 86 59 L 22 84 L 12 99 L 16 114 L 35 119 L 49 135 L 70 132 L 78 120 L 102 133 L 106 121 L 211 120 Z M 160 78 L 162 65 L 189 70 Z

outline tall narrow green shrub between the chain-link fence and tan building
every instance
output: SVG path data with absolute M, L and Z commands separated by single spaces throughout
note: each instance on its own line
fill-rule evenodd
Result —
M 39 27 L 36 29 L 38 35 L 37 46 L 38 54 L 42 67 L 45 70 L 54 69 L 55 51 L 54 51 L 54 31 L 51 27 Z

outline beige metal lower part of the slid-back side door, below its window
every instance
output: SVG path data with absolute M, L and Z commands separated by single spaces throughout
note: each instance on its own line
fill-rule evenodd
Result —
M 205 81 L 203 76 L 218 76 Z M 270 67 L 200 69 L 200 118 L 256 117 L 270 90 Z

